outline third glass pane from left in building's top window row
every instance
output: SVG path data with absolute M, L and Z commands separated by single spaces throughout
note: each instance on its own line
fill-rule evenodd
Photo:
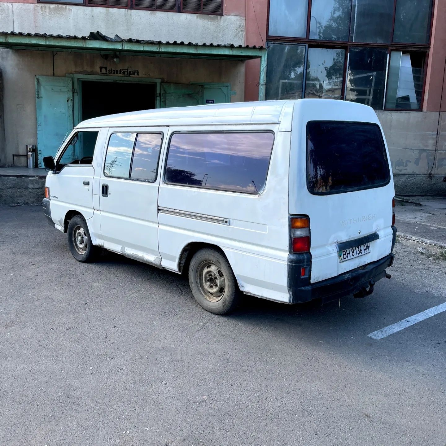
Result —
M 390 43 L 393 6 L 392 0 L 353 0 L 350 40 Z

